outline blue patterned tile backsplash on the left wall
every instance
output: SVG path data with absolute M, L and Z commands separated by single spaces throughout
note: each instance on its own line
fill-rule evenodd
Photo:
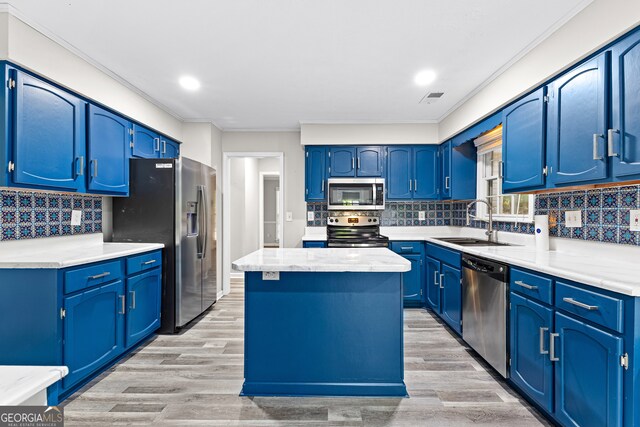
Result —
M 102 231 L 102 197 L 0 190 L 0 240 L 34 239 Z M 71 225 L 71 211 L 82 224 Z

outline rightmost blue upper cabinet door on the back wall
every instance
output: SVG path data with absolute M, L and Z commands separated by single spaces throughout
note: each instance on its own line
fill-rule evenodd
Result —
M 440 189 L 438 146 L 413 148 L 413 199 L 437 199 Z

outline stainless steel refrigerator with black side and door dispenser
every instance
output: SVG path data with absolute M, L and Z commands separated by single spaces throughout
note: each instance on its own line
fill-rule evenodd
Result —
M 113 199 L 114 242 L 159 242 L 160 332 L 216 302 L 216 171 L 189 159 L 131 159 L 129 197 Z

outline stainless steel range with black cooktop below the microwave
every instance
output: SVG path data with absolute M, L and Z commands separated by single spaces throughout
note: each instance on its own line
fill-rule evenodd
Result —
M 380 235 L 380 219 L 372 216 L 334 216 L 327 219 L 330 248 L 386 248 L 389 238 Z

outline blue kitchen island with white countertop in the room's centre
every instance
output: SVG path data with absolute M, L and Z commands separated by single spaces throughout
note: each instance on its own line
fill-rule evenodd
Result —
M 385 248 L 261 249 L 245 272 L 243 396 L 406 397 L 402 273 Z

